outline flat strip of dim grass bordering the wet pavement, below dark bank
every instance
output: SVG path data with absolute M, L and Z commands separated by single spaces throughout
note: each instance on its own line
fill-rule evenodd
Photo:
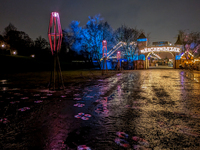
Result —
M 105 79 L 115 75 L 116 71 L 108 71 L 107 74 L 102 75 L 101 70 L 76 70 L 76 71 L 62 71 L 64 85 L 71 83 L 79 84 L 92 82 L 97 79 Z M 57 75 L 57 74 L 56 74 Z M 41 72 L 22 72 L 22 73 L 1 73 L 1 80 L 8 80 L 13 86 L 20 86 L 26 88 L 47 87 L 50 81 L 51 71 Z

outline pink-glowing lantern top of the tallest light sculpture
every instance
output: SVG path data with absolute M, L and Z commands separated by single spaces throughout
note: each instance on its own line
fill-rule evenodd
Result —
M 58 12 L 52 12 L 49 22 L 48 37 L 51 47 L 52 55 L 58 52 L 61 48 L 62 42 L 62 28 L 60 24 L 60 17 Z

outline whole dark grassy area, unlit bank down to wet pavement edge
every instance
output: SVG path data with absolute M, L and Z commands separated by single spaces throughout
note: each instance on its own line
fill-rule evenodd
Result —
M 76 65 L 73 66 L 73 64 L 61 62 L 62 76 L 65 86 L 71 83 L 79 84 L 88 81 L 92 82 L 96 79 L 105 79 L 118 73 L 114 70 L 109 70 L 106 74 L 102 75 L 101 70 L 76 69 Z M 49 84 L 52 68 L 51 62 L 39 61 L 35 58 L 0 55 L 0 80 L 7 80 L 9 86 L 45 88 Z M 69 70 L 70 68 L 76 70 Z

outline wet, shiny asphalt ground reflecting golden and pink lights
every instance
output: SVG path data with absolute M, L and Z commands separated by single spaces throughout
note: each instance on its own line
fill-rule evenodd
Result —
M 1 81 L 0 149 L 199 150 L 199 79 L 134 70 L 57 92 Z

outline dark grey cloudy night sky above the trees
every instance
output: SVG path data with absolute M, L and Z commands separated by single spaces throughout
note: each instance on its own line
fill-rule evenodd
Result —
M 174 43 L 180 29 L 200 31 L 200 0 L 0 0 L 0 34 L 12 23 L 33 40 L 47 39 L 52 11 L 60 13 L 62 28 L 100 13 L 114 29 L 125 24 L 151 33 L 151 42 Z

